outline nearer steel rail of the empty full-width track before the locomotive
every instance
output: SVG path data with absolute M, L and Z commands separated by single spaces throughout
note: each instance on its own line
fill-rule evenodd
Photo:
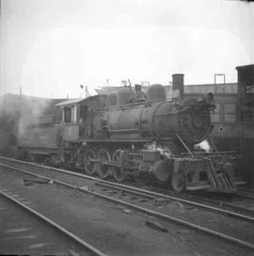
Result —
M 1 166 L 6 166 L 6 165 L 1 164 Z M 243 248 L 248 248 L 248 249 L 254 250 L 254 244 L 248 243 L 246 241 L 243 241 L 241 239 L 232 237 L 232 236 L 227 235 L 227 234 L 222 233 L 222 232 L 216 232 L 214 230 L 199 226 L 195 223 L 183 220 L 181 218 L 177 218 L 177 217 L 174 217 L 174 216 L 168 216 L 168 215 L 165 215 L 165 214 L 162 214 L 162 213 L 159 213 L 159 212 L 155 212 L 153 210 L 144 208 L 142 206 L 138 206 L 138 205 L 135 205 L 133 203 L 126 202 L 126 201 L 123 201 L 123 200 L 114 199 L 114 198 L 105 196 L 103 194 L 100 194 L 100 193 L 97 193 L 97 192 L 94 192 L 94 191 L 83 190 L 80 186 L 73 185 L 73 184 L 68 184 L 68 183 L 61 182 L 61 181 L 57 181 L 56 179 L 52 179 L 52 178 L 49 178 L 49 177 L 46 177 L 46 176 L 43 176 L 43 175 L 40 175 L 40 174 L 35 174 L 35 173 L 29 172 L 29 171 L 26 171 L 26 170 L 23 170 L 23 169 L 20 169 L 20 168 L 13 168 L 13 167 L 8 167 L 8 166 L 6 166 L 6 168 L 10 168 L 10 169 L 13 169 L 13 170 L 19 171 L 19 172 L 24 172 L 25 174 L 36 176 L 36 177 L 39 177 L 41 179 L 45 179 L 45 180 L 48 180 L 48 181 L 53 181 L 53 183 L 55 183 L 55 184 L 61 184 L 61 185 L 64 185 L 64 186 L 67 186 L 67 187 L 70 187 L 70 188 L 73 188 L 73 189 L 77 189 L 77 190 L 83 191 L 83 192 L 85 192 L 89 195 L 93 195 L 93 196 L 102 198 L 104 200 L 109 200 L 109 201 L 112 201 L 114 203 L 119 203 L 121 205 L 133 208 L 136 211 L 139 211 L 139 212 L 142 212 L 142 213 L 145 213 L 145 214 L 149 214 L 151 216 L 155 216 L 155 217 L 161 218 L 163 220 L 167 220 L 167 221 L 170 221 L 170 222 L 180 224 L 184 227 L 197 230 L 198 232 L 208 233 L 208 234 L 211 234 L 211 235 L 215 236 L 216 238 L 218 238 L 218 237 L 222 238 L 222 239 L 224 239 L 228 242 L 234 243 L 234 244 L 236 244 L 238 246 L 241 246 Z

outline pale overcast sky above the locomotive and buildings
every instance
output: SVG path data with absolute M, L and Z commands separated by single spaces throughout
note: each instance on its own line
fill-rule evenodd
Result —
M 236 82 L 254 63 L 253 27 L 254 3 L 237 0 L 1 0 L 0 94 L 78 97 L 80 84 L 168 84 L 174 72 Z

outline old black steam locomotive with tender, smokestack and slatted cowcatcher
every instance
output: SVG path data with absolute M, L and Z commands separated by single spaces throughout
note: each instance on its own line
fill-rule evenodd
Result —
M 75 165 L 102 179 L 158 181 L 175 191 L 232 191 L 235 152 L 218 152 L 212 130 L 213 94 L 184 99 L 183 74 L 173 75 L 179 97 L 168 100 L 161 85 L 140 85 L 107 95 L 56 104 L 54 123 L 29 125 L 18 147 L 34 160 Z

